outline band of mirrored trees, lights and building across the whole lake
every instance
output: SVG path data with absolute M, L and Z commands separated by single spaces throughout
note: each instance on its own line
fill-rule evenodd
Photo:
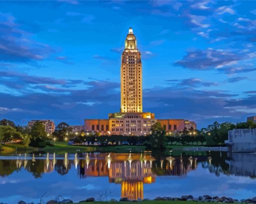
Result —
M 1 157 L 0 178 L 21 169 L 32 172 L 35 178 L 53 171 L 64 175 L 74 166 L 80 178 L 108 177 L 110 183 L 120 185 L 120 197 L 138 200 L 144 198 L 144 185 L 157 182 L 157 176 L 183 176 L 195 170 L 198 163 L 217 176 L 224 173 L 255 177 L 256 154 L 234 154 L 229 159 L 219 155 L 219 152 L 167 157 L 150 153 L 65 153 L 64 157 L 55 153 L 39 157 L 34 153 L 20 154 L 15 159 Z

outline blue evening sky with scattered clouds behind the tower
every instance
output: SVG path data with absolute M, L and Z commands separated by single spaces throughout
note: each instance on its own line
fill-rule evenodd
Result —
M 83 124 L 120 106 L 130 27 L 144 111 L 215 120 L 256 115 L 256 2 L 0 2 L 0 117 Z

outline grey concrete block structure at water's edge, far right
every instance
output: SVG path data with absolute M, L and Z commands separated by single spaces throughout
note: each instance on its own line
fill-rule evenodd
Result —
M 229 130 L 225 144 L 228 152 L 256 152 L 256 128 Z

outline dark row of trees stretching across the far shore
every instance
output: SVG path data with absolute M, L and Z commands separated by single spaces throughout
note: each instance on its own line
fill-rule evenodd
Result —
M 144 145 L 148 148 L 165 149 L 166 145 L 223 145 L 228 139 L 228 131 L 232 129 L 256 128 L 252 121 L 240 123 L 218 123 L 208 125 L 201 130 L 184 129 L 180 132 L 166 132 L 160 123 L 151 127 L 152 134 L 147 136 L 122 136 L 122 135 L 101 135 L 99 132 L 73 132 L 72 128 L 65 122 L 57 125 L 52 135 L 45 132 L 44 124 L 36 122 L 31 128 L 16 126 L 13 121 L 0 120 L 0 142 L 10 141 L 21 142 L 27 148 L 28 146 L 43 148 L 46 145 L 52 145 L 49 140 L 70 141 L 75 144 L 91 144 L 95 142 L 98 145 Z

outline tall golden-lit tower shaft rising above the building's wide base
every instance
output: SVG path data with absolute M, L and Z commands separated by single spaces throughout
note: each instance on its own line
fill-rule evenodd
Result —
M 142 112 L 142 61 L 132 28 L 121 57 L 121 112 Z

